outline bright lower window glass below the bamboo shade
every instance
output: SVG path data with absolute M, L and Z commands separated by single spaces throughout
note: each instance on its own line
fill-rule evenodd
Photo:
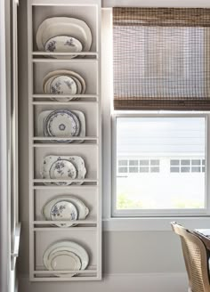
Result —
M 206 158 L 205 127 L 205 118 L 117 118 L 117 160 L 136 158 L 116 178 L 117 209 L 206 207 L 206 173 L 196 165 Z

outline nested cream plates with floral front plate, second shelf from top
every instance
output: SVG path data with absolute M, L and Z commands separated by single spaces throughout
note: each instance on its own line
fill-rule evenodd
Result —
M 43 91 L 48 94 L 76 95 L 84 94 L 85 80 L 81 75 L 70 70 L 55 70 L 48 73 L 43 80 Z M 52 98 L 56 101 L 71 101 L 76 98 Z

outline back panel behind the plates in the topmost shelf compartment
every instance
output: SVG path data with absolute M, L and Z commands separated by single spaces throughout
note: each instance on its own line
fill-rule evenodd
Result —
M 82 8 L 82 9 L 81 9 Z M 32 7 L 32 18 L 33 18 L 33 50 L 37 51 L 36 46 L 36 32 L 39 25 L 47 18 L 52 17 L 70 17 L 76 18 L 78 20 L 84 20 L 92 32 L 92 45 L 91 52 L 98 51 L 98 10 L 97 5 L 80 5 L 74 4 L 68 6 L 56 5 L 56 7 L 51 5 L 33 6 Z

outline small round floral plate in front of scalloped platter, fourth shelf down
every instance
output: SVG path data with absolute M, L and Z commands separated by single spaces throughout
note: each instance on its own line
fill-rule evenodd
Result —
M 74 180 L 77 177 L 77 169 L 69 160 L 57 160 L 50 168 L 50 178 L 61 180 Z M 69 183 L 56 183 L 58 185 L 69 185 Z

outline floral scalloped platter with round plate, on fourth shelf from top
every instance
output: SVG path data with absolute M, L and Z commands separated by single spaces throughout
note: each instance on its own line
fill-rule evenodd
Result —
M 85 161 L 79 156 L 46 156 L 43 161 L 41 175 L 44 179 L 84 180 L 86 174 Z M 83 182 L 74 183 L 82 184 Z M 45 183 L 49 184 L 49 183 Z M 50 183 L 54 184 L 54 183 Z M 69 185 L 71 182 L 56 182 L 58 185 Z

